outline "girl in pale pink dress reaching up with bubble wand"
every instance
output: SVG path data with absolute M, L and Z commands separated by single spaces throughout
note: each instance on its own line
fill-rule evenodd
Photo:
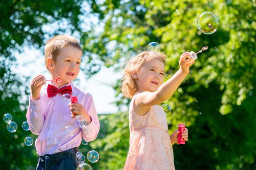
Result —
M 187 59 L 188 58 L 188 59 Z M 171 136 L 163 108 L 194 63 L 189 52 L 181 55 L 180 69 L 163 84 L 166 56 L 157 51 L 144 51 L 125 68 L 122 92 L 131 99 L 129 106 L 129 152 L 124 170 L 175 170 L 172 145 L 177 142 L 176 130 Z M 188 140 L 188 129 L 182 137 Z

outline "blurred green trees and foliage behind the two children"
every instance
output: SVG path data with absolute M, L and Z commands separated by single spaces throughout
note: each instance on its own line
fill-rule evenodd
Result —
M 206 11 L 219 19 L 211 35 L 196 27 Z M 25 121 L 28 78 L 11 71 L 14 53 L 24 46 L 43 51 L 56 34 L 79 38 L 88 77 L 103 65 L 122 71 L 131 56 L 155 41 L 168 56 L 168 79 L 181 53 L 208 46 L 165 102 L 172 107 L 170 133 L 180 122 L 190 133 L 186 145 L 173 145 L 175 168 L 256 170 L 256 0 L 0 0 L 0 16 L 1 115 L 11 113 L 18 125 Z M 120 80 L 113 88 L 120 111 L 99 115 L 98 138 L 80 147 L 84 154 L 100 153 L 100 160 L 90 163 L 94 170 L 122 170 L 128 152 L 128 113 L 121 108 L 129 100 L 120 93 Z M 23 142 L 37 136 L 19 129 L 9 133 L 4 121 L 0 128 L 0 169 L 34 170 L 35 147 Z

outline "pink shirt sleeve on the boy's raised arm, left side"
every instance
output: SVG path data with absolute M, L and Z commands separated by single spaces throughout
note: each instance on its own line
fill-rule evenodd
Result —
M 33 101 L 29 98 L 29 107 L 26 113 L 27 123 L 32 134 L 39 135 L 43 128 L 42 100 Z

